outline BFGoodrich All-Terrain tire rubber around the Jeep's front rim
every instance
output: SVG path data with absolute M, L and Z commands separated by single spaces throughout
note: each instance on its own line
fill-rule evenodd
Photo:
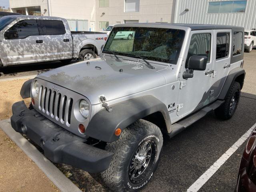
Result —
M 129 168 L 132 158 L 140 144 L 154 142 L 157 149 L 154 156 L 155 163 L 149 168 L 145 178 L 140 183 L 132 183 L 129 179 Z M 159 156 L 163 145 L 163 137 L 160 129 L 146 121 L 138 120 L 122 131 L 120 138 L 106 145 L 106 150 L 113 152 L 112 161 L 107 170 L 100 173 L 101 180 L 114 192 L 136 192 L 141 190 L 152 178 L 159 162 Z M 153 151 L 153 150 L 152 150 Z M 143 177 L 142 177 L 143 178 Z

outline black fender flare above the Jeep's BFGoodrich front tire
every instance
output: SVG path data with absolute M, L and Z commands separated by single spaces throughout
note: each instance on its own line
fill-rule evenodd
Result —
M 141 96 L 111 106 L 113 111 L 105 108 L 96 113 L 90 120 L 85 135 L 104 141 L 118 140 L 115 130 L 123 130 L 128 125 L 155 112 L 161 112 L 167 127 L 171 130 L 171 120 L 166 105 L 154 96 Z

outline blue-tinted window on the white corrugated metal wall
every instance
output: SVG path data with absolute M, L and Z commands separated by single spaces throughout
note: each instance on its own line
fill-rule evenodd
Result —
M 244 13 L 247 0 L 209 2 L 208 13 Z

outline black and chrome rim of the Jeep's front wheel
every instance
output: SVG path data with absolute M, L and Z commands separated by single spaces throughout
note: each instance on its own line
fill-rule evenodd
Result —
M 137 184 L 143 181 L 154 167 L 157 148 L 153 140 L 144 141 L 138 146 L 132 156 L 129 166 L 129 179 Z

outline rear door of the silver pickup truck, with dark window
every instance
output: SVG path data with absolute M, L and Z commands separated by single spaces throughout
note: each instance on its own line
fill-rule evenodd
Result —
M 73 57 L 73 40 L 67 22 L 40 19 L 48 60 L 62 60 Z

